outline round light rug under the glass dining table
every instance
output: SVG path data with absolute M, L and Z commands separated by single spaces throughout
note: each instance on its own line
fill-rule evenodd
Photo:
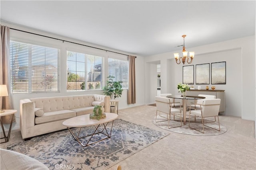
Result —
M 175 119 L 178 120 L 179 117 L 175 117 Z M 166 119 L 157 115 L 156 121 L 162 121 L 162 122 L 156 122 L 155 119 L 152 120 L 152 122 L 154 123 L 154 125 L 162 128 L 162 129 L 165 129 L 167 131 L 182 133 L 182 134 L 186 134 L 186 135 L 200 135 L 200 136 L 221 135 L 227 131 L 227 128 L 224 125 L 222 125 L 221 123 L 220 123 L 220 131 L 215 130 L 215 129 L 219 128 L 218 122 L 207 123 L 206 124 L 207 126 L 210 126 L 214 129 L 204 126 L 204 133 L 194 130 L 194 129 L 198 129 L 200 131 L 203 131 L 203 127 L 202 127 L 202 123 L 201 123 L 202 119 L 200 117 L 196 118 L 196 122 L 191 121 L 191 119 L 190 119 L 190 126 L 193 127 L 194 129 L 188 127 L 188 122 L 186 122 L 186 125 L 184 125 L 182 122 L 182 127 L 175 127 L 175 126 L 180 125 L 180 121 L 173 121 L 173 120 L 170 121 L 170 127 L 175 127 L 175 128 L 169 129 L 168 121 L 164 121 L 164 120 L 166 120 Z M 194 120 L 194 118 L 193 118 L 193 120 Z M 210 122 L 212 120 L 204 119 L 204 121 Z

